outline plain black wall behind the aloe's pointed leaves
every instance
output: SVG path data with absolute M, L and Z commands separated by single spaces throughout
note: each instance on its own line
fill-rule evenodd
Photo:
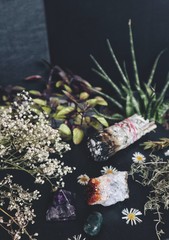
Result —
M 156 55 L 169 47 L 168 0 L 45 0 L 50 54 L 53 64 L 70 68 L 90 81 L 92 53 L 113 77 L 119 74 L 109 56 L 106 38 L 132 74 L 128 20 L 132 20 L 135 49 L 142 80 L 146 80 Z M 161 58 L 156 82 L 160 88 L 169 70 L 169 52 Z M 101 80 L 98 83 L 100 84 Z

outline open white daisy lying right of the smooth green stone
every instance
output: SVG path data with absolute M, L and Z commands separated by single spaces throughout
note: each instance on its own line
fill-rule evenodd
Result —
M 128 208 L 125 208 L 123 209 L 122 214 L 125 215 L 125 217 L 122 217 L 122 219 L 125 219 L 127 224 L 131 222 L 131 225 L 133 226 L 133 223 L 136 225 L 137 222 L 142 222 L 142 220 L 137 217 L 142 215 L 142 213 L 137 209 L 131 208 L 129 211 Z

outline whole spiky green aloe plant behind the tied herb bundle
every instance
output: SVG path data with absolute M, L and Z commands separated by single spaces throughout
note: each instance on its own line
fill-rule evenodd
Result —
M 130 51 L 132 58 L 132 68 L 134 72 L 134 86 L 131 84 L 131 80 L 128 76 L 126 66 L 120 66 L 119 61 L 112 49 L 110 41 L 107 40 L 107 45 L 111 57 L 120 73 L 121 82 L 116 85 L 111 77 L 105 72 L 98 61 L 91 55 L 92 60 L 96 65 L 96 69 L 93 69 L 107 84 L 112 88 L 112 92 L 116 98 L 109 96 L 103 92 L 100 95 L 104 96 L 108 101 L 115 106 L 119 113 L 124 117 L 129 117 L 134 113 L 141 114 L 143 117 L 155 120 L 159 123 L 163 122 L 163 115 L 167 109 L 169 109 L 169 102 L 166 101 L 165 97 L 169 88 L 169 73 L 167 74 L 166 83 L 160 93 L 157 93 L 155 86 L 153 86 L 154 74 L 159 62 L 161 55 L 165 50 L 161 51 L 155 59 L 153 67 L 151 69 L 149 78 L 146 82 L 140 80 L 135 49 L 133 41 L 133 33 L 131 27 L 131 20 L 129 20 L 129 39 L 130 39 Z M 99 93 L 99 91 L 97 91 Z M 119 115 L 120 116 L 120 115 Z

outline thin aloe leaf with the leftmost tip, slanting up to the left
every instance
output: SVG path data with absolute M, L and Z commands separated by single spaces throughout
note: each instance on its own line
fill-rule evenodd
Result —
M 100 66 L 100 64 L 97 62 L 97 60 L 90 55 L 91 59 L 93 60 L 93 62 L 96 64 L 96 66 L 98 67 L 99 71 L 101 72 L 101 74 L 99 74 L 103 79 L 105 79 L 113 88 L 114 90 L 121 96 L 121 91 L 120 89 L 116 86 L 116 84 L 113 83 L 113 81 L 111 80 L 111 78 L 107 75 L 107 73 L 103 70 L 103 68 Z M 97 70 L 95 70 L 95 72 L 98 74 L 99 72 Z

